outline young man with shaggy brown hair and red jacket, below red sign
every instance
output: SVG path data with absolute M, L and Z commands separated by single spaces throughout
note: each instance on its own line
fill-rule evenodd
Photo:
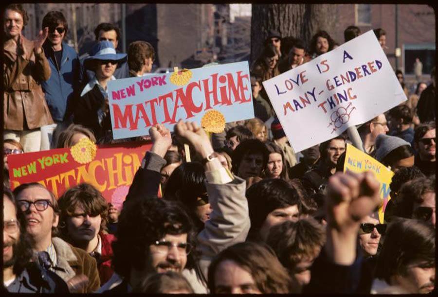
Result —
M 96 259 L 100 283 L 107 282 L 113 273 L 111 243 L 115 237 L 106 233 L 109 206 L 102 193 L 83 183 L 67 190 L 58 204 L 62 237 Z

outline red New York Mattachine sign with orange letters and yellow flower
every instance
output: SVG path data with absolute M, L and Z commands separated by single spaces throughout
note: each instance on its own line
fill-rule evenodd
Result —
M 9 155 L 11 188 L 38 182 L 59 197 L 70 187 L 87 182 L 108 202 L 121 205 L 152 144 L 137 141 L 96 147 L 90 143 L 80 141 L 71 149 Z

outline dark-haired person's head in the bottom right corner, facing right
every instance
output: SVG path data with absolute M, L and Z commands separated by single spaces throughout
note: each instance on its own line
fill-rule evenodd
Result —
M 435 229 L 400 219 L 385 234 L 377 260 L 374 294 L 427 294 L 435 289 Z

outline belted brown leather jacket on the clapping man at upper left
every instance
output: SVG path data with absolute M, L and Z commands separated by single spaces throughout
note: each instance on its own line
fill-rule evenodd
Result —
M 29 130 L 53 123 L 44 99 L 41 81 L 50 78 L 44 52 L 34 52 L 34 42 L 21 36 L 19 49 L 14 39 L 3 45 L 4 129 Z

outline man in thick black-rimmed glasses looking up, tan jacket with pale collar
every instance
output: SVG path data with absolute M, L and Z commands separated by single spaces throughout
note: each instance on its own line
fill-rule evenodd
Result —
M 97 290 L 100 280 L 96 261 L 84 250 L 56 237 L 60 211 L 55 195 L 39 183 L 22 184 L 14 195 L 39 264 L 67 282 L 71 292 Z

